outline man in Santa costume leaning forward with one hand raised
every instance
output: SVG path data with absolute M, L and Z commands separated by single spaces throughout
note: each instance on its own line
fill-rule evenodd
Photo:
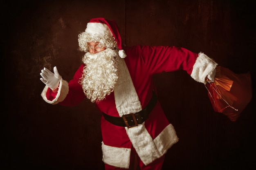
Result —
M 88 98 L 97 105 L 106 170 L 133 169 L 136 162 L 141 170 L 160 170 L 178 137 L 157 101 L 152 76 L 183 69 L 204 83 L 213 81 L 217 63 L 175 46 L 122 47 L 115 21 L 104 18 L 91 19 L 78 42 L 84 64 L 70 82 L 56 66 L 54 73 L 44 68 L 41 96 L 49 104 L 76 106 Z

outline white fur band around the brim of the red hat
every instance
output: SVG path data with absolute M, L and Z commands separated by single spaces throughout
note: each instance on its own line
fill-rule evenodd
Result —
M 96 34 L 100 37 L 103 37 L 104 35 L 113 36 L 110 29 L 108 28 L 108 25 L 99 22 L 89 22 L 85 32 L 92 35 Z

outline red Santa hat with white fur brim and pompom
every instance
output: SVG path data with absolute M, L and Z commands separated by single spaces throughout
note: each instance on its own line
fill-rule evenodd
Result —
M 92 18 L 90 22 L 88 22 L 85 32 L 92 35 L 96 34 L 99 36 L 113 36 L 119 48 L 119 56 L 121 58 L 126 57 L 126 53 L 124 50 L 122 50 L 121 36 L 118 31 L 117 24 L 114 20 L 107 20 L 105 18 Z

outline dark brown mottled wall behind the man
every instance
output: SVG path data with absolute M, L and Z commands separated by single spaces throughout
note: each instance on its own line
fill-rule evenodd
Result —
M 7 3 L 7 2 L 6 2 Z M 181 46 L 235 73 L 255 91 L 255 2 L 233 0 L 22 1 L 2 6 L 2 169 L 103 169 L 101 114 L 83 101 L 66 108 L 40 97 L 43 67 L 69 81 L 81 64 L 77 35 L 90 18 L 116 20 L 123 44 Z M 163 169 L 255 168 L 255 96 L 236 122 L 214 113 L 207 90 L 185 71 L 154 77 L 180 141 Z

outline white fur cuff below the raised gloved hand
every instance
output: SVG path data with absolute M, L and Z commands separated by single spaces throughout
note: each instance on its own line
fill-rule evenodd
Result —
M 69 89 L 68 82 L 61 79 L 60 85 L 58 87 L 58 93 L 57 93 L 56 97 L 52 101 L 50 101 L 46 97 L 48 88 L 49 88 L 48 86 L 45 86 L 45 88 L 43 89 L 43 91 L 41 93 L 41 96 L 43 97 L 45 102 L 47 102 L 49 104 L 58 104 L 59 102 L 62 102 L 65 99 L 65 97 L 67 96 L 68 89 Z

